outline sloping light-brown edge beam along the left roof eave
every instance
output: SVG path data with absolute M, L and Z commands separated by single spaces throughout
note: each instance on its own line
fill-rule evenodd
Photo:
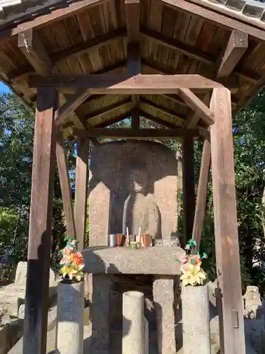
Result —
M 61 6 L 59 8 L 50 9 L 49 13 L 46 13 L 42 16 L 37 16 L 31 21 L 25 21 L 24 23 L 19 23 L 13 28 L 7 28 L 6 30 L 1 30 L 0 40 L 6 40 L 13 35 L 18 35 L 19 33 L 24 32 L 25 30 L 30 30 L 33 28 L 42 28 L 49 23 L 61 21 L 63 18 L 72 16 L 73 13 L 78 13 L 84 11 L 85 9 L 92 8 L 93 6 L 98 6 L 107 2 L 108 0 L 80 0 L 75 1 L 74 3 L 65 4 L 65 1 L 61 1 Z

